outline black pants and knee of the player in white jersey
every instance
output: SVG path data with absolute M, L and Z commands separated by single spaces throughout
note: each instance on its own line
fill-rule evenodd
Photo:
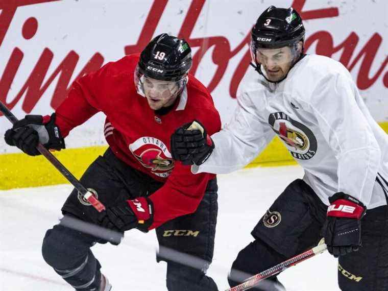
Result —
M 255 240 L 238 253 L 230 285 L 316 246 L 326 211 L 327 206 L 304 181 L 289 184 L 252 231 Z M 361 221 L 361 238 L 358 252 L 338 258 L 338 285 L 342 291 L 387 291 L 388 206 L 367 211 Z M 318 268 L 322 272 L 324 267 Z M 252 290 L 278 291 L 284 287 L 273 277 Z

